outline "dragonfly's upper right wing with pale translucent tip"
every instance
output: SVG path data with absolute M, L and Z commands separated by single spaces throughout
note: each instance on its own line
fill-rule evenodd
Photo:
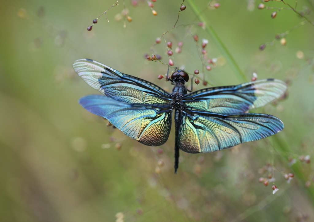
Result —
M 183 97 L 186 106 L 220 114 L 241 113 L 264 106 L 281 95 L 287 85 L 278 79 L 262 79 L 236 86 L 197 90 Z

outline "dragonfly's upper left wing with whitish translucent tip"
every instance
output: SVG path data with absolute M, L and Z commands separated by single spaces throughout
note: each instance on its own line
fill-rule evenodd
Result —
M 78 59 L 73 63 L 73 68 L 87 84 L 116 101 L 167 104 L 171 100 L 170 93 L 159 86 L 91 59 Z

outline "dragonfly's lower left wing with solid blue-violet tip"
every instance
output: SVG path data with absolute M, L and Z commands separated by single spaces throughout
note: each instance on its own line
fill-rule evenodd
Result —
M 164 144 L 171 129 L 171 111 L 112 100 L 104 95 L 88 95 L 78 100 L 86 110 L 105 117 L 124 134 L 148 146 Z

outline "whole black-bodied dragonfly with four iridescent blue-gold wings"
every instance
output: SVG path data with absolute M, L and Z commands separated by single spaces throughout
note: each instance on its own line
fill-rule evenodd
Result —
M 73 63 L 76 73 L 103 95 L 78 100 L 86 110 L 106 118 L 130 138 L 147 146 L 164 144 L 175 123 L 175 174 L 179 150 L 208 153 L 280 132 L 283 122 L 272 115 L 249 113 L 284 94 L 279 79 L 262 79 L 233 86 L 200 89 L 187 94 L 189 75 L 176 70 L 169 93 L 159 86 L 121 73 L 91 59 Z

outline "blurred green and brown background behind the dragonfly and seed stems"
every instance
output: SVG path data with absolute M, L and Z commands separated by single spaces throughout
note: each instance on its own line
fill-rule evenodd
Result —
M 283 132 L 261 141 L 208 154 L 181 152 L 173 174 L 174 129 L 160 147 L 144 146 L 79 106 L 84 95 L 97 94 L 73 71 L 79 58 L 102 62 L 123 73 L 158 80 L 167 66 L 146 61 L 157 53 L 167 63 L 166 46 L 156 37 L 171 30 L 181 1 L 158 0 L 157 16 L 146 1 L 125 1 L 132 22 L 117 17 L 123 2 L 87 26 L 115 1 L 2 1 L 0 8 L 0 220 L 1 221 L 314 221 L 314 26 L 301 25 L 286 38 L 275 35 L 304 21 L 292 10 L 257 9 L 261 2 L 189 0 L 177 25 L 164 37 L 174 61 L 189 73 L 202 70 L 192 35 L 208 39 L 208 58 L 217 65 L 204 73 L 214 86 L 240 84 L 219 47 L 199 22 L 190 4 L 203 11 L 219 39 L 246 75 L 289 83 L 288 96 L 254 112 L 279 117 Z M 134 1 L 133 1 L 134 3 Z M 294 5 L 295 1 L 288 1 Z M 214 2 L 210 3 L 213 5 Z M 282 2 L 265 3 L 285 7 Z M 298 1 L 298 11 L 313 1 Z M 314 21 L 312 14 L 306 16 Z M 123 17 L 123 16 L 122 16 Z M 116 18 L 116 19 L 115 19 Z M 170 70 L 171 72 L 173 70 Z M 199 74 L 203 79 L 203 74 Z M 202 82 L 202 81 L 201 81 Z M 204 88 L 203 84 L 195 89 Z M 301 156 L 301 157 L 300 157 Z M 308 157 L 306 157 L 308 158 Z M 301 160 L 300 160 L 301 159 Z M 309 160 L 307 162 L 310 162 Z M 294 164 L 293 164 L 294 163 Z M 285 174 L 293 173 L 288 183 Z M 259 178 L 271 179 L 265 187 Z M 272 194 L 272 185 L 279 191 Z M 119 213 L 116 215 L 117 213 Z M 120 215 L 120 216 L 119 216 Z M 122 215 L 122 217 L 121 217 Z

